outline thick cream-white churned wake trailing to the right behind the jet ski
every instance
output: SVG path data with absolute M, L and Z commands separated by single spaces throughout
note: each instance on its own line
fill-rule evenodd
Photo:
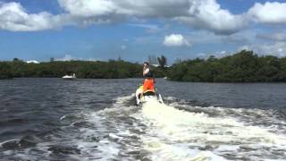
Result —
M 144 148 L 152 152 L 152 160 L 256 159 L 269 158 L 277 149 L 286 150 L 284 135 L 245 125 L 233 117 L 209 117 L 156 101 L 147 102 L 141 113 L 148 127 L 142 140 Z M 269 154 L 264 153 L 265 148 Z

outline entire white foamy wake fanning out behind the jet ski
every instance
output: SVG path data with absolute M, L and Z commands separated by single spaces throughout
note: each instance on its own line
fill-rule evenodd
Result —
M 139 107 L 132 106 L 133 99 L 134 95 L 118 97 L 100 111 L 63 116 L 61 121 L 72 120 L 71 128 L 77 131 L 71 134 L 69 143 L 76 145 L 80 154 L 71 157 L 159 161 L 286 157 L 285 135 L 270 127 L 241 122 L 246 116 L 242 109 L 194 107 L 179 102 L 189 112 L 178 109 L 181 105 L 177 101 L 167 106 L 151 100 Z M 266 113 L 254 109 L 251 114 Z

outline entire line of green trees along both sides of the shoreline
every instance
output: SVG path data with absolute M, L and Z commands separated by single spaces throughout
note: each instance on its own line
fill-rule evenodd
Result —
M 154 57 L 149 57 L 155 62 Z M 158 57 L 158 67 L 152 69 L 156 78 L 167 76 L 168 80 L 201 82 L 286 82 L 286 57 L 258 56 L 252 51 L 242 50 L 234 55 L 208 59 L 177 61 L 165 68 L 166 57 Z M 156 64 L 157 65 L 157 64 Z M 55 61 L 27 64 L 20 59 L 0 62 L 0 79 L 21 77 L 52 77 L 75 72 L 82 79 L 141 78 L 142 64 L 118 60 L 101 61 Z

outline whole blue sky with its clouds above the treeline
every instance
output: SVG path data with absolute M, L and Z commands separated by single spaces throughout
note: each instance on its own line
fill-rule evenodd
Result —
M 284 56 L 285 23 L 277 0 L 0 0 L 0 60 Z

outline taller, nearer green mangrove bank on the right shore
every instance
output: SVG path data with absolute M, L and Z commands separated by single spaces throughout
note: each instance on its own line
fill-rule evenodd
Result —
M 286 57 L 257 56 L 252 51 L 208 59 L 194 59 L 173 64 L 170 80 L 206 82 L 286 81 Z

